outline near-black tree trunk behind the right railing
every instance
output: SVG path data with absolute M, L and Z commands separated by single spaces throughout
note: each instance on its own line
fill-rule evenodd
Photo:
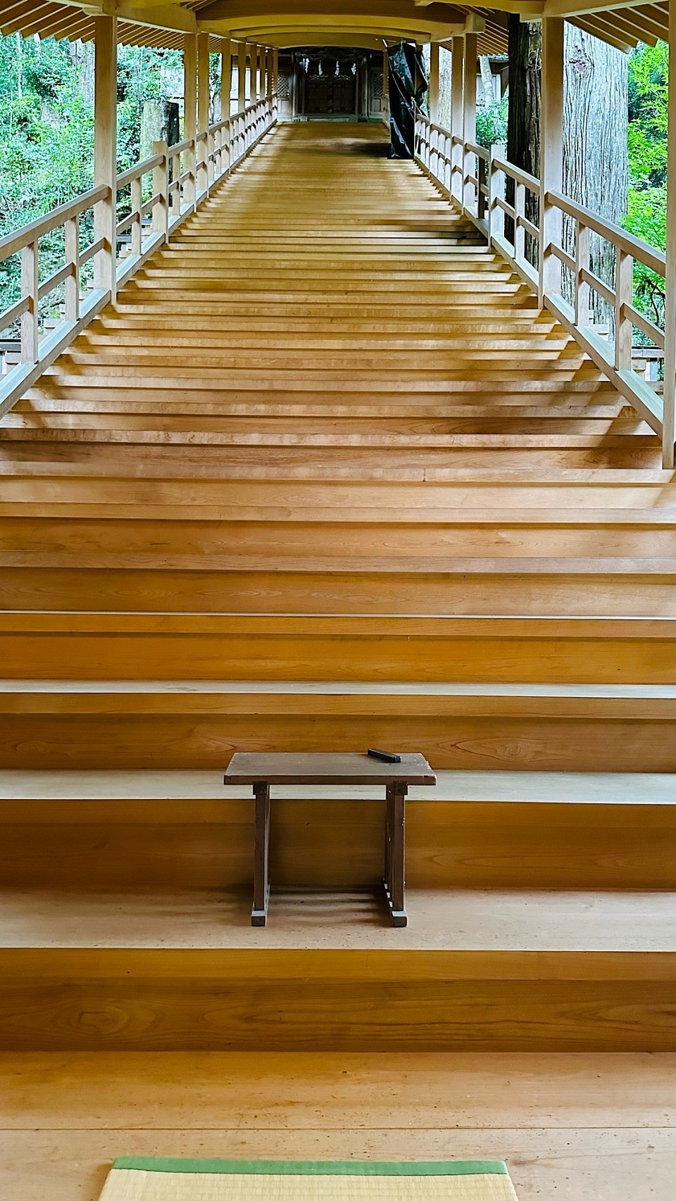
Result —
M 543 34 L 538 22 L 521 23 L 510 14 L 508 26 L 509 107 L 507 113 L 507 157 L 530 175 L 540 174 L 540 96 Z M 505 199 L 514 204 L 514 181 L 507 180 Z M 538 222 L 538 201 L 526 192 L 526 216 Z M 504 235 L 514 241 L 514 222 L 505 217 Z M 526 256 L 534 263 L 536 249 L 526 237 Z

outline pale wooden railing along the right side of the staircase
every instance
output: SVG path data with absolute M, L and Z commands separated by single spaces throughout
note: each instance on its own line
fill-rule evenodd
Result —
M 663 400 L 650 383 L 632 369 L 633 329 L 652 339 L 664 348 L 664 331 L 648 321 L 633 299 L 634 261 L 644 263 L 657 275 L 665 275 L 665 256 L 648 243 L 634 238 L 626 229 L 605 221 L 596 213 L 576 204 L 568 196 L 549 191 L 543 195 L 539 179 L 520 171 L 497 154 L 463 141 L 449 130 L 430 121 L 418 112 L 415 118 L 414 159 L 432 183 L 463 216 L 468 217 L 485 234 L 493 246 L 521 276 L 524 282 L 538 293 L 543 303 L 561 324 L 579 342 L 593 363 L 615 384 L 644 418 L 663 438 L 663 461 L 669 466 L 672 459 L 674 431 L 664 428 Z M 468 163 L 477 162 L 477 171 Z M 514 185 L 514 204 L 505 199 L 504 183 Z M 526 216 L 526 193 L 538 201 L 540 219 L 536 223 Z M 545 205 L 558 210 L 574 222 L 575 255 L 569 255 L 558 241 L 543 246 L 542 214 Z M 504 217 L 512 219 L 514 235 L 508 241 Z M 590 269 L 590 233 L 606 239 L 616 252 L 616 271 L 610 286 Z M 526 234 L 537 250 L 538 267 L 526 257 Z M 544 264 L 556 259 L 568 268 L 573 279 L 573 303 L 561 291 L 545 291 L 542 286 Z M 548 271 L 546 277 L 552 273 Z M 615 342 L 609 342 L 590 328 L 591 293 L 597 292 L 615 312 Z

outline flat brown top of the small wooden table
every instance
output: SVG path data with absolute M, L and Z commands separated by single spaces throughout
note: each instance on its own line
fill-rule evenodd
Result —
M 233 754 L 226 784 L 436 784 L 421 754 L 402 754 L 401 763 L 382 763 L 364 754 Z

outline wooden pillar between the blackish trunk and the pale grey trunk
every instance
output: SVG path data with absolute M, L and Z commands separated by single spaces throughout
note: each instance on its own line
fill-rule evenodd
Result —
M 543 17 L 543 98 L 540 115 L 540 267 L 538 299 L 561 292 L 561 261 L 551 253 L 561 244 L 561 209 L 546 203 L 548 192 L 563 186 L 563 19 Z

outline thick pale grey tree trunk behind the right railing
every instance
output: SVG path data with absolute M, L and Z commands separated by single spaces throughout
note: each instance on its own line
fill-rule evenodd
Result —
M 627 55 L 566 23 L 563 89 L 563 191 L 578 204 L 621 225 L 629 186 L 627 155 Z M 564 219 L 563 246 L 575 252 L 575 231 Z M 590 238 L 591 270 L 612 286 L 615 250 L 598 234 Z M 564 293 L 573 281 L 564 271 Z M 591 319 L 612 328 L 614 313 L 591 293 Z

